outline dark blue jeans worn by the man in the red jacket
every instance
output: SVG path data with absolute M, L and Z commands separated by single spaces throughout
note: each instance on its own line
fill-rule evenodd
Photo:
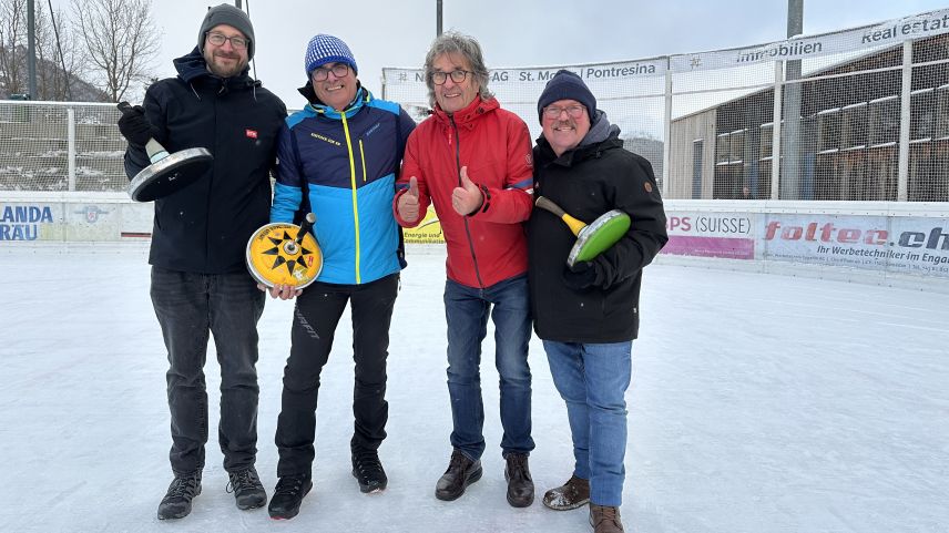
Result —
M 493 306 L 493 310 L 491 307 Z M 451 399 L 451 445 L 471 460 L 484 453 L 484 406 L 481 400 L 481 341 L 488 315 L 494 321 L 494 366 L 501 381 L 503 454 L 530 453 L 531 338 L 528 278 L 518 276 L 483 289 L 452 280 L 445 284 L 448 321 L 448 394 Z

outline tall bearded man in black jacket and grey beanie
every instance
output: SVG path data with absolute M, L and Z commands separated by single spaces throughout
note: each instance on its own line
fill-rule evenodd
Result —
M 151 296 L 170 368 L 174 480 L 159 519 L 191 512 L 201 493 L 207 442 L 204 362 L 208 334 L 221 365 L 218 442 L 239 509 L 267 501 L 254 469 L 257 443 L 257 320 L 265 295 L 245 266 L 251 235 L 269 219 L 269 172 L 284 103 L 247 75 L 254 28 L 228 4 L 207 11 L 197 47 L 174 61 L 178 75 L 154 83 L 144 105 L 126 111 L 119 129 L 129 141 L 125 172 L 149 165 L 154 137 L 170 153 L 204 147 L 211 168 L 184 188 L 155 201 L 149 263 Z

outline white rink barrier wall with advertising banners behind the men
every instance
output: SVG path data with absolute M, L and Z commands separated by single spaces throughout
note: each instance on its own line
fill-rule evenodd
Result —
M 665 211 L 660 264 L 949 293 L 949 203 L 669 199 Z M 141 245 L 152 218 L 124 193 L 0 192 L 0 249 Z M 443 242 L 433 212 L 406 242 Z

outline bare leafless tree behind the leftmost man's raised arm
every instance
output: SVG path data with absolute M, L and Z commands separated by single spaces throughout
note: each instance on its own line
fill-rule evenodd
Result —
M 73 0 L 72 12 L 75 33 L 94 66 L 89 74 L 113 102 L 150 78 L 161 45 L 151 0 Z

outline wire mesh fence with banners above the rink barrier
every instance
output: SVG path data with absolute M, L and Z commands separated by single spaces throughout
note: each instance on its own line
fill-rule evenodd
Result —
M 492 70 L 489 89 L 534 139 L 559 69 L 585 80 L 667 198 L 949 201 L 949 9 L 741 49 Z M 382 79 L 382 98 L 428 116 L 421 70 Z M 0 191 L 124 191 L 118 119 L 111 104 L 0 101 Z

